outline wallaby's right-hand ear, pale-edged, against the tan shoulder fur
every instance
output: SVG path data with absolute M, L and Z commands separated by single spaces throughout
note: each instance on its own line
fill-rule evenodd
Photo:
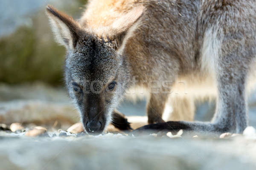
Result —
M 124 14 L 119 19 L 113 22 L 113 34 L 114 39 L 117 43 L 117 48 L 119 48 L 128 37 L 131 36 L 134 29 L 136 29 L 136 23 L 143 15 L 145 11 L 144 6 L 137 6 L 131 9 L 127 14 Z

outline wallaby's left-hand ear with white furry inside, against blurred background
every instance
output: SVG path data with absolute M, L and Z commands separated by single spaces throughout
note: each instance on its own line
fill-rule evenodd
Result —
M 46 14 L 49 17 L 56 41 L 64 45 L 68 50 L 74 49 L 81 30 L 79 23 L 49 5 L 46 7 Z

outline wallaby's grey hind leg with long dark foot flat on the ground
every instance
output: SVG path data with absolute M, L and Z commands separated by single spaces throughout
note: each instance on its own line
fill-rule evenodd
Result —
M 217 61 L 215 61 L 218 97 L 212 122 L 163 122 L 145 125 L 136 129 L 135 133 L 143 130 L 177 131 L 180 129 L 202 133 L 242 133 L 248 125 L 245 84 L 248 66 L 250 65 L 250 59 L 248 58 L 250 57 L 245 55 L 250 53 L 245 53 L 236 46 L 233 46 L 232 50 L 225 50 L 229 45 L 229 43 L 226 43 L 222 46 L 222 56 L 216 58 Z M 223 51 L 227 51 L 227 54 Z M 231 51 L 232 53 L 230 54 Z M 248 57 L 247 62 L 244 59 L 243 63 L 241 63 L 241 57 Z

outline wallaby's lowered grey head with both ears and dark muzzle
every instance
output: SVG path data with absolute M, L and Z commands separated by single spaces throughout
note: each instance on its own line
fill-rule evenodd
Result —
M 129 68 L 120 49 L 142 14 L 143 7 L 134 8 L 111 26 L 90 30 L 47 6 L 55 38 L 67 48 L 67 89 L 88 133 L 102 133 L 124 95 Z

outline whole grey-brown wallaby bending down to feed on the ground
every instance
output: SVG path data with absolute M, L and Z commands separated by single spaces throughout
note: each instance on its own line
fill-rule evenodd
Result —
M 256 82 L 254 0 L 90 0 L 78 22 L 51 6 L 47 15 L 67 48 L 67 89 L 88 133 L 102 133 L 110 122 L 129 129 L 115 109 L 135 87 L 149 92 L 149 125 L 136 131 L 247 127 L 247 94 Z M 172 97 L 178 105 L 216 97 L 211 122 L 163 121 L 180 85 L 188 92 Z

